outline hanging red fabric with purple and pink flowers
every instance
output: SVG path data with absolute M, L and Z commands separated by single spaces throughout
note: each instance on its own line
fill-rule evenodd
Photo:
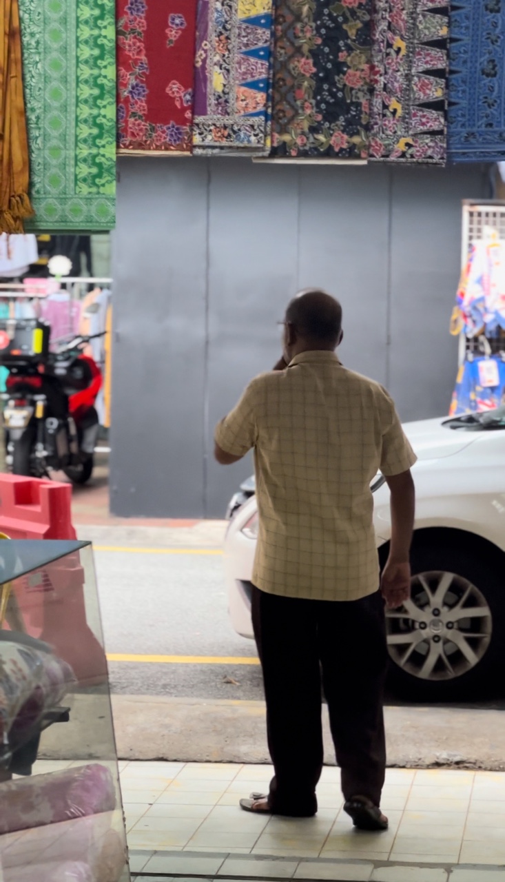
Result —
M 189 153 L 197 0 L 116 0 L 120 153 Z

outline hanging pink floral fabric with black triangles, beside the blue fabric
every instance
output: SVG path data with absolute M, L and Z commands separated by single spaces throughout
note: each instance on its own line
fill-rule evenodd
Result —
M 374 0 L 370 160 L 443 164 L 447 0 Z

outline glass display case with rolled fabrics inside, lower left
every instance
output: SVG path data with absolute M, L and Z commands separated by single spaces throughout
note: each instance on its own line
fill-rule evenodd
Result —
M 0 878 L 129 882 L 91 546 L 0 561 Z

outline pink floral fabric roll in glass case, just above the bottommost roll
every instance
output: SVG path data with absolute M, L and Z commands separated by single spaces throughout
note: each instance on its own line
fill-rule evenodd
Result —
M 0 833 L 114 811 L 116 803 L 112 774 L 98 764 L 7 781 L 0 794 Z

